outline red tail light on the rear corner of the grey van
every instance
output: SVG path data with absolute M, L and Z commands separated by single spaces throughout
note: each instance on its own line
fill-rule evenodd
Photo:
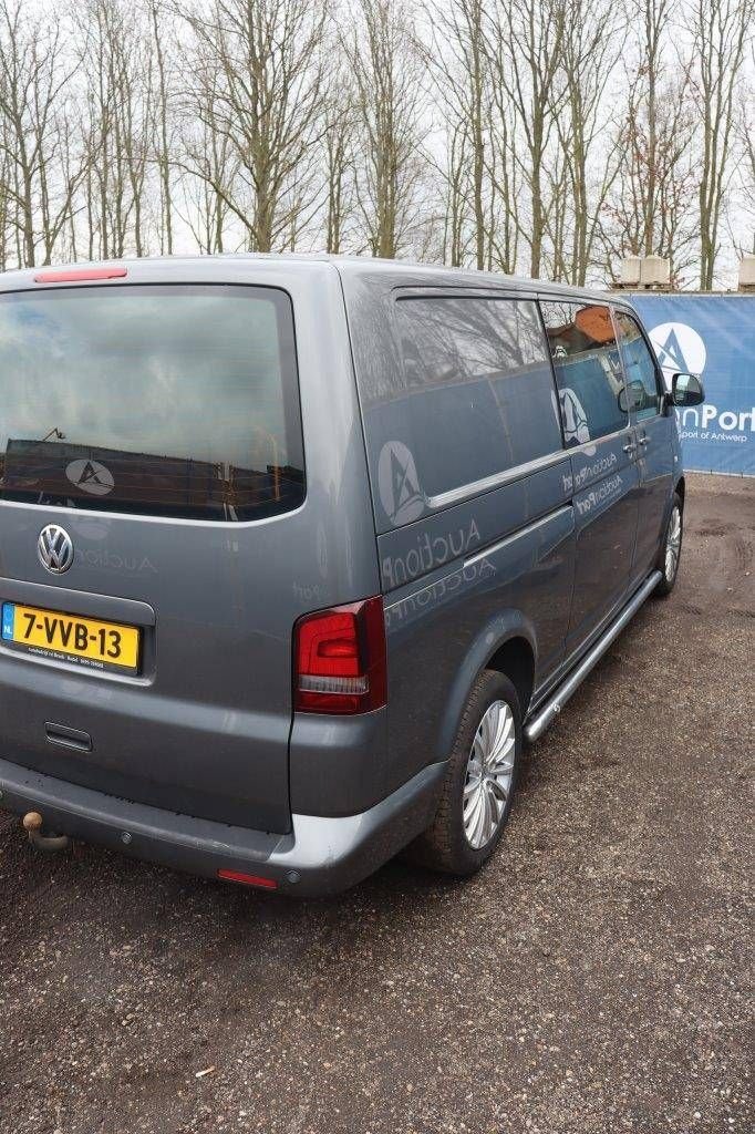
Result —
M 294 627 L 294 704 L 299 712 L 371 712 L 385 704 L 381 598 L 319 610 Z

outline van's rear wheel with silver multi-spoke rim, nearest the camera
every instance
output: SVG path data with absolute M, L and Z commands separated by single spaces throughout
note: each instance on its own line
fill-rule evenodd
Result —
M 499 742 L 498 763 L 489 765 L 501 769 L 498 777 L 491 776 L 490 770 L 484 776 L 476 773 L 476 769 L 481 767 L 481 746 L 483 748 L 486 746 L 485 741 L 490 745 L 492 736 L 490 728 L 486 736 L 481 731 L 477 759 L 474 761 L 474 767 L 470 767 L 473 746 L 478 729 L 483 727 L 486 713 L 490 713 L 487 717 L 489 726 L 498 723 L 501 729 L 500 735 L 503 738 L 507 733 L 514 737 L 512 745 L 509 745 L 508 739 L 503 739 L 502 744 Z M 474 874 L 487 862 L 501 840 L 511 812 L 521 764 L 521 709 L 517 691 L 508 677 L 485 669 L 475 682 L 461 717 L 435 818 L 427 830 L 408 848 L 413 862 L 460 878 Z M 493 754 L 495 754 L 494 744 Z M 512 764 L 510 778 L 507 771 L 509 764 Z M 495 780 L 495 785 L 492 784 L 492 780 Z M 504 787 L 507 781 L 508 787 Z M 484 837 L 487 824 L 483 819 L 480 819 L 478 823 L 482 830 L 475 830 L 473 807 L 487 809 L 485 818 L 495 822 L 490 837 Z M 470 829 L 473 837 L 469 833 Z M 480 845 L 475 845 L 475 835 L 477 835 Z

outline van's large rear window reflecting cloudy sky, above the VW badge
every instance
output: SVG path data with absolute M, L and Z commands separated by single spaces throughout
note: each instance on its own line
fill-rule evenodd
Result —
M 282 291 L 108 286 L 0 297 L 0 499 L 248 521 L 303 497 Z

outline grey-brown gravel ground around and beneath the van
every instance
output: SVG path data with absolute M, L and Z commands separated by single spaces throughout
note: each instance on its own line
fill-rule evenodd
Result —
M 467 885 L 296 903 L 0 815 L 0 1131 L 752 1131 L 754 550 L 753 482 L 692 479 Z

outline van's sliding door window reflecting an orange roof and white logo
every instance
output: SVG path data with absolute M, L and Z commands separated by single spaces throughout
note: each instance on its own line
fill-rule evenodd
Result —
M 611 312 L 603 304 L 541 303 L 567 446 L 585 445 L 629 423 Z

